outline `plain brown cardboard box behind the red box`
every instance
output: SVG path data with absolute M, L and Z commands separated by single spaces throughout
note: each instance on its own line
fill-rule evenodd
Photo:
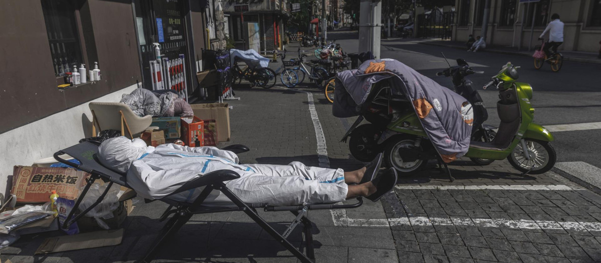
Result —
M 230 106 L 227 103 L 192 104 L 194 116 L 215 119 L 219 142 L 230 141 Z

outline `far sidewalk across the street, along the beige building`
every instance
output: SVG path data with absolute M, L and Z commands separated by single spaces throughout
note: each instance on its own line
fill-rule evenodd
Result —
M 439 39 L 416 39 L 420 44 L 429 44 L 433 46 L 444 46 L 444 47 L 452 47 L 456 49 L 466 50 L 465 43 L 450 41 L 450 40 L 439 40 Z M 501 46 L 490 46 L 486 47 L 484 52 L 495 52 L 502 53 L 508 55 L 520 55 L 520 56 L 532 56 L 534 53 L 534 45 L 532 44 L 532 50 L 528 51 L 527 48 L 524 48 L 520 51 L 517 50 L 517 47 L 501 47 Z M 561 54 L 564 56 L 564 60 L 566 61 L 575 61 L 575 62 L 585 62 L 585 63 L 593 63 L 593 64 L 601 64 L 601 59 L 597 58 L 599 53 L 592 52 L 577 52 L 577 51 L 566 51 L 560 50 Z

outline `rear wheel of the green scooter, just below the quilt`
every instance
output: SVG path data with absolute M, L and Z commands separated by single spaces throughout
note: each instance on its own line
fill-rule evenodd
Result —
M 412 136 L 397 135 L 384 142 L 384 162 L 387 167 L 397 170 L 399 177 L 406 177 L 421 171 L 428 164 L 427 160 L 403 160 L 400 151 L 409 150 L 415 145 L 415 138 Z

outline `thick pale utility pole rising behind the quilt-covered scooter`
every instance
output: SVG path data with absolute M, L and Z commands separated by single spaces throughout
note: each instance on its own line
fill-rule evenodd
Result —
M 359 50 L 369 50 L 374 58 L 380 58 L 382 1 L 361 0 L 359 10 Z

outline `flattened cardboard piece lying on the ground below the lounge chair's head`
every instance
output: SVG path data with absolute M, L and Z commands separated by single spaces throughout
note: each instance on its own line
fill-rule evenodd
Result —
M 44 240 L 34 255 L 91 249 L 94 247 L 116 246 L 123 240 L 123 228 L 117 230 L 103 230 L 76 235 L 63 235 L 50 237 Z

